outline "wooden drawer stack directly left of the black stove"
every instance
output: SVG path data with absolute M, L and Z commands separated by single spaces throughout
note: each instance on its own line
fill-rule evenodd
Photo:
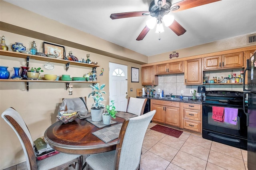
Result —
M 182 103 L 183 128 L 202 132 L 202 105 Z

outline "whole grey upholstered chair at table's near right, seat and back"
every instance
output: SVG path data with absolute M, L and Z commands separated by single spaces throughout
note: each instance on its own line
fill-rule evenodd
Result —
M 138 170 L 142 143 L 156 110 L 124 120 L 116 150 L 91 154 L 86 162 L 93 170 Z

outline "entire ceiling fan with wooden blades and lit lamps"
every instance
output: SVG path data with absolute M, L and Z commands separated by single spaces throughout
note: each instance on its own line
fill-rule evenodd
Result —
M 177 36 L 180 36 L 184 34 L 186 30 L 176 20 L 174 20 L 173 16 L 167 15 L 169 12 L 178 12 L 217 1 L 220 0 L 182 0 L 180 2 L 172 4 L 171 0 L 153 0 L 150 3 L 148 11 L 116 13 L 111 14 L 110 18 L 112 20 L 115 20 L 120 18 L 129 18 L 137 16 L 152 16 L 153 18 L 146 22 L 146 26 L 143 28 L 142 32 L 136 39 L 137 41 L 143 40 L 143 38 L 146 36 L 149 30 L 153 29 L 155 25 L 156 33 L 163 32 L 163 23 L 165 24 L 166 27 L 169 27 L 175 34 L 177 34 Z

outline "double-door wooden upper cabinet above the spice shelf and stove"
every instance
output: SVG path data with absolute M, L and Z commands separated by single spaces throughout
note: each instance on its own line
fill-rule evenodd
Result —
M 204 70 L 233 69 L 244 67 L 244 52 L 204 57 Z

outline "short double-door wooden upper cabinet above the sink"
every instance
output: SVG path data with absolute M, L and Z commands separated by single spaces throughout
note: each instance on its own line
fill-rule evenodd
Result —
M 182 61 L 156 65 L 156 75 L 183 73 Z

